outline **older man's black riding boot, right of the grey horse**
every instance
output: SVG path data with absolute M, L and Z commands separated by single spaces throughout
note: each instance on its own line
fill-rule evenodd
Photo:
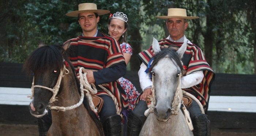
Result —
M 211 136 L 210 120 L 206 114 L 199 114 L 192 119 L 194 136 Z

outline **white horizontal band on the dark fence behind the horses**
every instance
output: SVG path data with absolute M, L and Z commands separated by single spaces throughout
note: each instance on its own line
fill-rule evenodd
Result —
M 30 88 L 0 87 L 0 104 L 29 105 Z M 210 96 L 208 111 L 255 112 L 256 97 L 250 96 Z

